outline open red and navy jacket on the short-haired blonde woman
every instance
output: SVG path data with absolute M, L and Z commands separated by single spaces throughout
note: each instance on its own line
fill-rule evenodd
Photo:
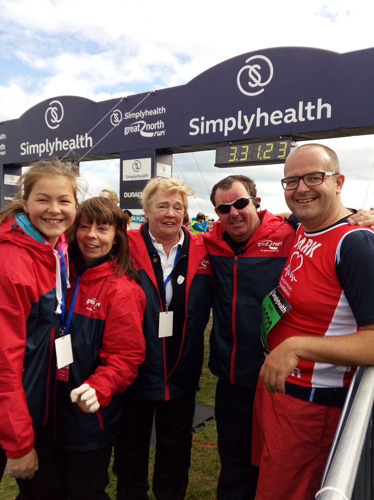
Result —
M 146 401 L 167 401 L 193 393 L 203 366 L 204 331 L 212 304 L 212 273 L 202 238 L 183 227 L 182 231 L 184 242 L 171 283 L 173 299 L 174 295 L 184 295 L 177 308 L 173 309 L 173 299 L 168 307 L 173 310 L 173 333 L 166 338 L 158 338 L 159 313 L 165 311 L 165 301 L 162 283 L 157 281 L 151 261 L 154 264 L 158 254 L 149 243 L 148 224 L 127 232 L 131 258 L 146 296 L 145 361 L 129 390 Z

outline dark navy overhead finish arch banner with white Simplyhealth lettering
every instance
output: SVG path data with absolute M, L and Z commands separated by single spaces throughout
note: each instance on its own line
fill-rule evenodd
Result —
M 261 49 L 177 87 L 99 103 L 51 97 L 0 124 L 0 163 L 373 133 L 373 95 L 374 48 Z

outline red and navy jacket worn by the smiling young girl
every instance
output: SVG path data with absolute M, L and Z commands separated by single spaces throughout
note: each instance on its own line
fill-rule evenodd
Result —
M 65 238 L 59 245 L 66 250 Z M 33 428 L 49 416 L 59 273 L 59 252 L 25 214 L 0 226 L 0 443 L 9 458 L 33 449 Z

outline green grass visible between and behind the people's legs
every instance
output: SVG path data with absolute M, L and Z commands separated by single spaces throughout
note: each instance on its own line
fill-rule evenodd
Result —
M 205 332 L 205 361 L 203 375 L 200 380 L 201 390 L 197 393 L 197 401 L 202 405 L 214 406 L 214 396 L 217 378 L 208 369 L 209 334 L 212 318 Z M 154 462 L 154 448 L 150 449 L 149 458 L 149 484 L 152 484 L 152 471 Z M 186 491 L 186 500 L 214 500 L 216 498 L 217 479 L 220 471 L 220 459 L 217 451 L 216 422 L 193 436 L 191 454 L 190 482 Z M 109 467 L 109 485 L 106 489 L 111 500 L 115 500 L 116 477 Z M 14 500 L 18 493 L 17 483 L 4 474 L 0 483 L 1 500 Z M 149 492 L 149 500 L 155 500 L 153 493 Z

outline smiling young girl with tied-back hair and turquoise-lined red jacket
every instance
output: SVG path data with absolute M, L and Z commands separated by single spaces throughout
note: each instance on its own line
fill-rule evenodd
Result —
M 76 173 L 59 160 L 39 161 L 21 176 L 18 191 L 20 202 L 0 213 L 0 444 L 19 498 L 52 500 L 54 340 Z

